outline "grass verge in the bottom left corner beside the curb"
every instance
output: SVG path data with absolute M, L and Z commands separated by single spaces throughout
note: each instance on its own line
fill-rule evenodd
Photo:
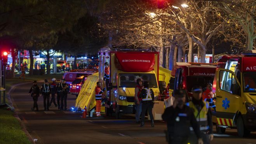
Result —
M 0 108 L 0 144 L 31 144 L 14 112 Z

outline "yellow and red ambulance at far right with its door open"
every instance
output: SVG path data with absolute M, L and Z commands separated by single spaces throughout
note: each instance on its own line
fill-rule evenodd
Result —
M 240 137 L 256 131 L 256 53 L 223 56 L 216 69 L 213 89 L 217 130 L 237 128 Z

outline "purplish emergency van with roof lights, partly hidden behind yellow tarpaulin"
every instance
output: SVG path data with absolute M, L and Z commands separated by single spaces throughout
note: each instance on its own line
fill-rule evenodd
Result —
M 92 75 L 97 72 L 98 71 L 95 69 L 73 69 L 70 72 L 65 72 L 63 74 L 63 78 L 65 78 L 66 83 L 70 85 L 76 78 L 81 76 L 87 77 L 88 75 Z

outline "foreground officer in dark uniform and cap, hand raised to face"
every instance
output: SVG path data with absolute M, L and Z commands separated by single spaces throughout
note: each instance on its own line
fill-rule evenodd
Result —
M 202 144 L 199 124 L 192 109 L 185 105 L 186 94 L 183 90 L 174 91 L 173 105 L 166 108 L 162 119 L 167 122 L 167 142 L 169 144 L 188 144 L 190 126 L 196 134 L 198 144 Z

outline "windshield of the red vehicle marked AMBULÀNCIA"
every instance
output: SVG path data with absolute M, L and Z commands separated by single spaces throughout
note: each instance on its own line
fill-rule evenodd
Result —
M 213 83 L 214 76 L 187 76 L 186 87 L 188 92 L 192 91 L 195 85 L 205 89 L 207 83 Z

